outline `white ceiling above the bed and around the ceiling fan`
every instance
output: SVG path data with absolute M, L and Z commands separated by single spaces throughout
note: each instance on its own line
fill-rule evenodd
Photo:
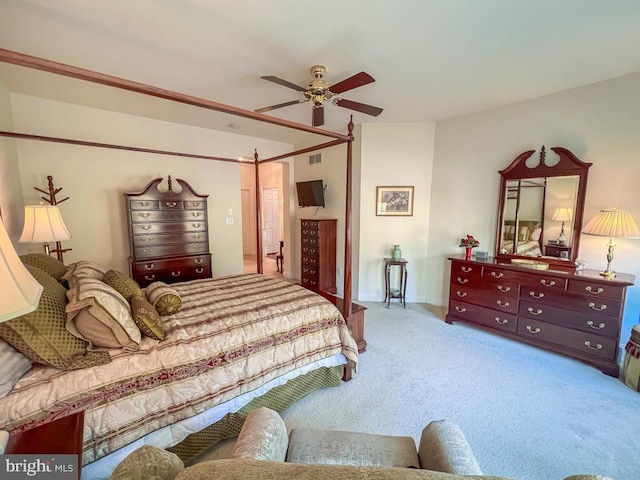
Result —
M 254 110 L 299 98 L 315 64 L 354 122 L 429 122 L 640 71 L 638 0 L 1 0 L 0 48 Z M 296 141 L 295 132 L 0 64 L 14 92 Z M 72 87 L 70 88 L 70 85 Z M 346 133 L 351 110 L 325 108 Z M 310 125 L 303 103 L 269 115 Z M 239 128 L 228 125 L 235 123 Z M 34 133 L 38 132 L 24 132 Z

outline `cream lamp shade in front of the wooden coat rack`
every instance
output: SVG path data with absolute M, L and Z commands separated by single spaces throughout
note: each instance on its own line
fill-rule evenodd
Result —
M 69 240 L 71 234 L 55 205 L 27 205 L 24 207 L 24 228 L 20 242 L 48 243 Z

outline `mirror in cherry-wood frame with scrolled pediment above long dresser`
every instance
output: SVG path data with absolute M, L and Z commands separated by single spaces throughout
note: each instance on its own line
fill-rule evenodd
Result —
M 500 171 L 496 258 L 531 258 L 573 270 L 590 163 L 566 148 L 528 150 Z

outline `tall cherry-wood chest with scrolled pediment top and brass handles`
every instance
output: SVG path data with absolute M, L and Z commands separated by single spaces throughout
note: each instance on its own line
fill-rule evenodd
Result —
M 184 180 L 173 190 L 158 190 L 162 178 L 140 193 L 125 193 L 129 226 L 130 273 L 141 287 L 162 281 L 184 282 L 211 277 L 207 197 Z

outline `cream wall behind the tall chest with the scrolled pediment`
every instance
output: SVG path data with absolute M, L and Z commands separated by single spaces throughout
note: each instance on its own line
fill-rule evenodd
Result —
M 291 150 L 288 144 L 215 132 L 116 112 L 12 94 L 15 130 L 96 142 L 182 151 L 227 158 L 264 157 Z M 209 243 L 215 275 L 242 271 L 240 166 L 235 163 L 152 155 L 131 151 L 19 140 L 22 191 L 38 203 L 33 189 L 46 189 L 47 175 L 63 187 L 60 205 L 72 239 L 65 262 L 88 259 L 128 271 L 129 242 L 124 192 L 141 191 L 158 177 L 182 178 L 208 194 Z M 165 183 L 166 185 L 166 183 Z M 176 189 L 179 187 L 174 183 Z M 232 209 L 233 225 L 225 219 Z M 32 246 L 32 250 L 41 247 Z

